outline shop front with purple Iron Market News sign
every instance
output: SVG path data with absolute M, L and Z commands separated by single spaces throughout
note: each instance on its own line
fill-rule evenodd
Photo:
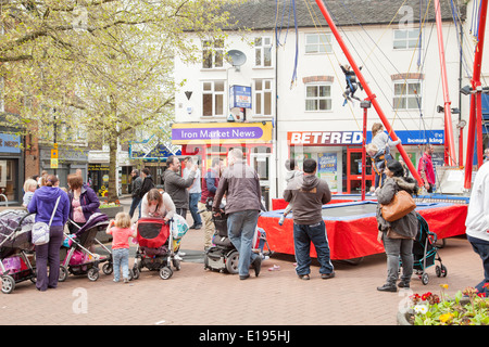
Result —
M 273 172 L 271 121 L 259 123 L 188 123 L 172 126 L 172 144 L 181 145 L 183 156 L 199 162 L 202 174 L 211 167 L 212 159 L 226 159 L 234 147 L 240 147 L 247 163 L 260 176 L 262 195 L 268 207 Z

